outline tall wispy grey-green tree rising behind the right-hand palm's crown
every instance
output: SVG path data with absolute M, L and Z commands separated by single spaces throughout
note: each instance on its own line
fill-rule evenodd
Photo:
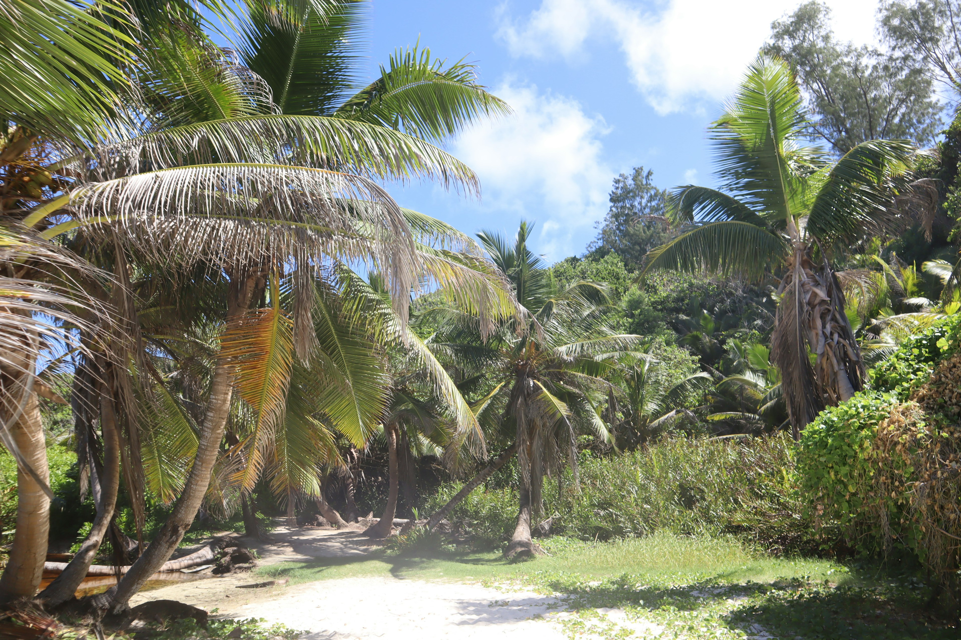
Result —
M 830 9 L 811 0 L 771 25 L 764 52 L 788 61 L 810 110 L 808 124 L 836 154 L 862 142 L 903 138 L 931 143 L 941 110 L 924 59 L 839 42 Z

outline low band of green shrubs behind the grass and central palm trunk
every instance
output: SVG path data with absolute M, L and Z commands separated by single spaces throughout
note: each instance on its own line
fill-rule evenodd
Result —
M 737 533 L 773 551 L 816 548 L 802 518 L 794 442 L 783 435 L 745 439 L 663 439 L 613 457 L 581 452 L 579 483 L 570 471 L 544 487 L 552 533 L 582 540 Z M 445 485 L 426 512 L 459 485 Z M 488 543 L 508 539 L 517 518 L 516 489 L 471 493 L 451 514 L 456 529 Z

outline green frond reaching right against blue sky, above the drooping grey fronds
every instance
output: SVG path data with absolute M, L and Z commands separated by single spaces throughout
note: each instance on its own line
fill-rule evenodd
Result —
M 336 115 L 442 141 L 482 116 L 506 115 L 510 107 L 477 83 L 473 64 L 445 68 L 431 50 L 417 46 L 390 56 L 381 77 L 337 109 Z

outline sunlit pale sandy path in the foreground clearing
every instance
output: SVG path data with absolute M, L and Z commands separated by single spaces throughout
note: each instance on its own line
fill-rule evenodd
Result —
M 357 531 L 280 527 L 266 542 L 244 541 L 260 565 L 314 557 L 362 556 L 377 547 Z M 403 578 L 348 578 L 294 586 L 238 588 L 258 580 L 250 574 L 175 584 L 137 594 L 131 605 L 177 600 L 215 612 L 217 617 L 264 618 L 309 631 L 304 640 L 357 638 L 521 637 L 561 640 L 559 628 L 535 616 L 557 601 L 527 591 L 503 591 L 480 584 Z

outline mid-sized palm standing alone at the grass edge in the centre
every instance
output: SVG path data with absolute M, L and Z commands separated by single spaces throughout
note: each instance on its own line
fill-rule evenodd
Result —
M 577 435 L 611 436 L 601 418 L 612 365 L 601 356 L 629 347 L 637 336 L 604 326 L 606 294 L 590 282 L 561 289 L 542 259 L 528 248 L 530 226 L 521 223 L 513 245 L 493 232 L 480 242 L 517 297 L 526 316 L 501 323 L 484 339 L 477 322 L 450 310 L 431 338 L 432 347 L 460 362 L 488 367 L 495 392 L 503 394 L 502 424 L 512 429 L 520 468 L 520 509 L 507 557 L 540 553 L 530 520 L 541 509 L 544 474 L 576 464 Z M 509 449 L 508 449 L 509 451 Z

